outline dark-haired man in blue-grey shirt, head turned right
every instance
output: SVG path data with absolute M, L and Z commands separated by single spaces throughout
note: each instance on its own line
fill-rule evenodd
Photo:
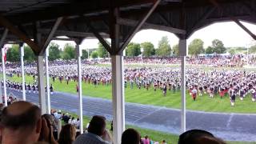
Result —
M 107 134 L 106 118 L 95 115 L 90 120 L 88 133 L 79 135 L 74 144 L 109 144 L 111 139 Z

